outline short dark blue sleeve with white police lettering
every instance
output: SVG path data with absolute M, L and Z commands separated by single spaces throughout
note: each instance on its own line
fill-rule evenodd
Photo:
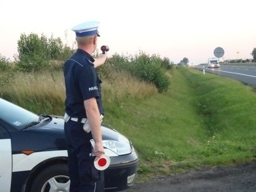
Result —
M 99 90 L 97 87 L 97 73 L 91 65 L 82 67 L 79 74 L 79 87 L 83 96 L 83 101 L 95 97 L 99 98 Z

